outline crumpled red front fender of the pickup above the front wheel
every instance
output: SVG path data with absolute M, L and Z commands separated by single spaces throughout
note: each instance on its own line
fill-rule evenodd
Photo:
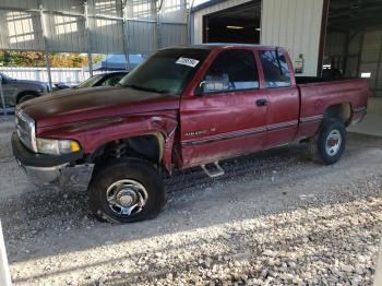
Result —
M 40 129 L 38 136 L 71 139 L 80 143 L 85 154 L 92 154 L 105 144 L 131 136 L 155 135 L 159 142 L 162 163 L 171 171 L 172 145 L 178 126 L 176 111 L 162 115 L 139 115 L 118 118 L 104 118 L 70 126 Z

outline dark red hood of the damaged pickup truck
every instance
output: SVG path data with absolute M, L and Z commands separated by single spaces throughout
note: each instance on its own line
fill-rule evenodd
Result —
M 63 90 L 20 105 L 38 128 L 98 118 L 179 109 L 180 96 L 123 86 Z

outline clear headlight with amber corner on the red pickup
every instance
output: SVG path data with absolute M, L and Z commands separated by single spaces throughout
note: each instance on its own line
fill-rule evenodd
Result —
M 37 139 L 38 153 L 63 155 L 80 151 L 80 145 L 73 140 Z

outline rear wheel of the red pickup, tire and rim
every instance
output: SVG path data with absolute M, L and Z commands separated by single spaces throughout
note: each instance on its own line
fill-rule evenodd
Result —
M 346 129 L 343 122 L 327 119 L 313 139 L 309 141 L 309 153 L 314 162 L 332 165 L 345 151 Z

